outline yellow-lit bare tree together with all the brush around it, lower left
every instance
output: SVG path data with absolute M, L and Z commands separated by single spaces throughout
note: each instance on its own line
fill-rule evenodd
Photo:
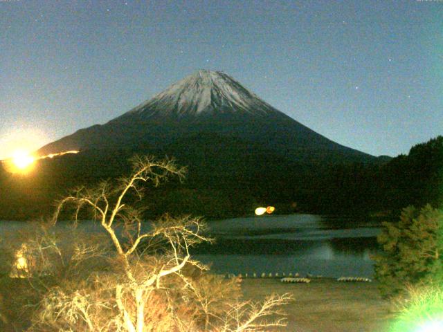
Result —
M 132 175 L 80 187 L 57 203 L 50 223 L 2 241 L 2 331 L 269 331 L 284 326 L 290 295 L 242 302 L 236 279 L 207 273 L 189 249 L 201 241 L 198 218 L 164 215 L 143 227 L 144 186 L 185 169 L 172 160 L 134 158 Z M 104 233 L 55 228 L 61 213 L 89 214 Z M 75 225 L 75 224 L 74 224 Z M 266 320 L 272 316 L 269 320 Z

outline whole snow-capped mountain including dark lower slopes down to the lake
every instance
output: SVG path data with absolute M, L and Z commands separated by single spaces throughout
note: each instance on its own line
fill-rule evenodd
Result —
M 386 163 L 325 138 L 216 71 L 198 71 L 36 154 L 71 150 L 80 152 L 39 160 L 33 176 L 11 177 L 0 167 L 0 219 L 50 215 L 67 189 L 129 174 L 134 154 L 188 167 L 185 183 L 147 190 L 140 204 L 150 217 L 225 219 L 267 205 L 284 214 L 360 212 L 377 206 L 378 169 Z

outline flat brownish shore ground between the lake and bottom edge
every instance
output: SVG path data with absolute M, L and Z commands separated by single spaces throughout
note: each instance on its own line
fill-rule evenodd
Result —
M 384 332 L 392 319 L 390 303 L 379 295 L 376 283 L 341 283 L 312 279 L 310 284 L 284 284 L 279 279 L 244 279 L 244 299 L 270 293 L 291 293 L 284 306 L 291 332 Z

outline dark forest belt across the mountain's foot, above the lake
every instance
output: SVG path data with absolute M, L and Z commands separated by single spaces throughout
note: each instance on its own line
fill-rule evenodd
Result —
M 28 175 L 2 169 L 0 219 L 48 215 L 53 201 L 69 188 L 129 173 L 128 159 L 136 151 L 174 155 L 188 165 L 185 183 L 172 181 L 145 193 L 141 204 L 151 216 L 170 212 L 221 219 L 251 215 L 259 205 L 274 205 L 280 213 L 395 215 L 407 205 L 443 201 L 442 136 L 415 145 L 407 156 L 376 163 L 288 162 L 270 151 L 250 149 L 220 142 L 188 149 L 89 150 L 40 160 Z

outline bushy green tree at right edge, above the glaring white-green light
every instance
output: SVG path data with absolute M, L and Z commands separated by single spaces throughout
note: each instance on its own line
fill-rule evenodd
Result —
M 390 297 L 405 286 L 442 278 L 443 214 L 426 205 L 401 212 L 399 221 L 384 222 L 377 237 L 382 252 L 375 256 L 376 279 L 382 295 Z

